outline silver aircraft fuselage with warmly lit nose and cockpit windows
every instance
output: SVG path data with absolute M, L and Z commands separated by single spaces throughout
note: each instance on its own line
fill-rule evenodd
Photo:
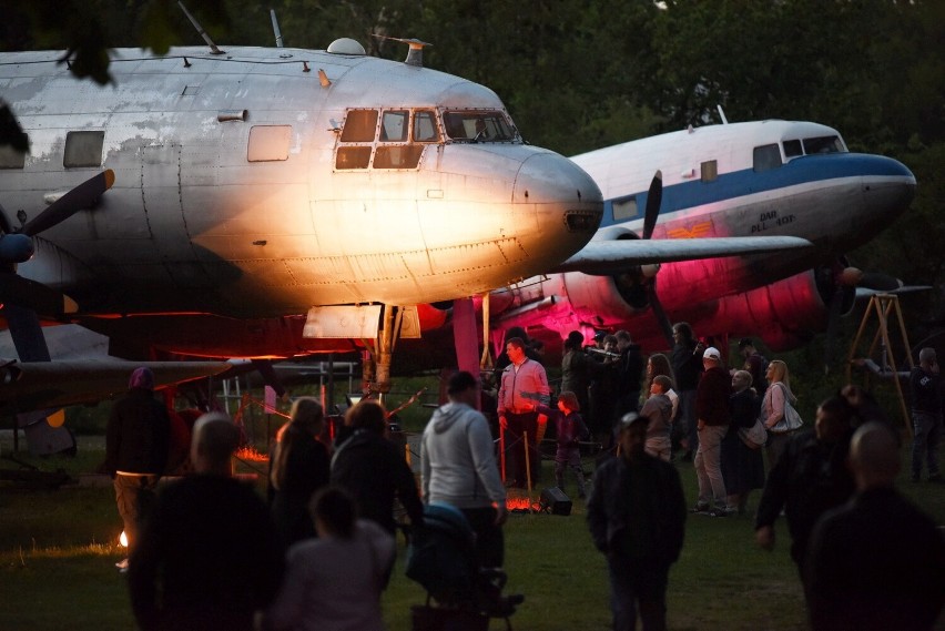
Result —
M 16 224 L 114 172 L 19 266 L 80 316 L 446 301 L 553 267 L 600 222 L 590 176 L 457 77 L 299 49 L 121 49 L 102 88 L 61 57 L 0 54 L 31 143 L 0 161 L 0 204 Z

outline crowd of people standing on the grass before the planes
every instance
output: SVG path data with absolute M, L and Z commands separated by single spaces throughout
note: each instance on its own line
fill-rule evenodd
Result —
M 694 515 L 754 515 L 756 542 L 768 550 L 783 518 L 814 629 L 931 628 L 945 603 L 945 546 L 894 489 L 898 428 L 875 399 L 847 386 L 817 406 L 811 426 L 796 427 L 799 397 L 784 362 L 769 362 L 744 338 L 742 362 L 730 368 L 685 323 L 673 339 L 670 354 L 644 360 L 627 332 L 597 335 L 587 347 L 575 332 L 553 393 L 525 332 L 511 332 L 496 423 L 480 411 L 480 379 L 454 374 L 421 437 L 419 486 L 385 436 L 382 404 L 350 408 L 332 442 L 321 404 L 299 398 L 271 455 L 265 501 L 232 478 L 238 432 L 220 414 L 194 425 L 193 474 L 155 495 L 169 421 L 146 403 L 153 377 L 135 370 L 109 424 L 106 462 L 131 535 L 123 569 L 141 628 L 384 629 L 379 602 L 396 529 L 424 528 L 431 505 L 461 513 L 478 567 L 502 568 L 506 487 L 537 481 L 543 419 L 557 442 L 556 484 L 565 490 L 566 474 L 573 476 L 591 540 L 606 554 L 614 630 L 636 629 L 638 618 L 644 630 L 665 629 L 669 570 Z M 910 395 L 912 479 L 941 481 L 934 349 L 922 349 Z M 603 452 L 590 482 L 588 441 Z M 691 503 L 680 475 L 689 460 Z M 753 490 L 762 491 L 755 510 Z M 395 501 L 409 528 L 395 522 Z

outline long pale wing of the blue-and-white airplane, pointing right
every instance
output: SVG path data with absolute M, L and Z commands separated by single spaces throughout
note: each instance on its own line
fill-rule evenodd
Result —
M 726 236 L 717 238 L 628 238 L 591 241 L 551 272 L 610 275 L 639 265 L 718 256 L 766 254 L 813 247 L 797 236 Z

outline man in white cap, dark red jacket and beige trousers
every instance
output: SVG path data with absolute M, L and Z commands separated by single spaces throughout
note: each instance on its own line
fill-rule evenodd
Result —
M 731 423 L 729 397 L 732 394 L 732 381 L 729 372 L 722 366 L 722 355 L 714 346 L 705 349 L 702 364 L 705 373 L 695 391 L 699 449 L 693 460 L 699 478 L 699 499 L 692 511 L 725 517 L 730 510 L 725 480 L 722 478 L 722 439 L 729 432 Z

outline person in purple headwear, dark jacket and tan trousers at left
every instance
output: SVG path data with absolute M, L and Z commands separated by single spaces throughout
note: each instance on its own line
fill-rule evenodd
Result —
M 154 374 L 143 366 L 135 368 L 128 395 L 112 407 L 105 429 L 105 471 L 114 480 L 129 554 L 167 465 L 170 440 L 167 408 L 154 399 Z M 118 566 L 126 569 L 128 560 Z

